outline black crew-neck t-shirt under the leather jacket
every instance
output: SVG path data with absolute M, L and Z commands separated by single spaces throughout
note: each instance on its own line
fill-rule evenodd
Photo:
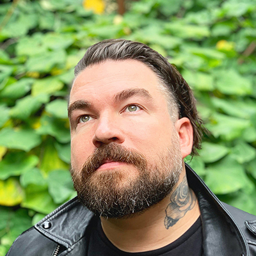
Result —
M 104 234 L 100 225 L 93 228 L 89 241 L 89 256 L 202 256 L 202 223 L 200 218 L 179 239 L 157 250 L 129 253 L 119 250 Z

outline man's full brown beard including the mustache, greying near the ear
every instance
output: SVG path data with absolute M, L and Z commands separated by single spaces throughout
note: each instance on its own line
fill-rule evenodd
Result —
M 106 218 L 129 218 L 145 211 L 170 194 L 179 180 L 182 157 L 178 139 L 173 138 L 172 147 L 157 158 L 157 163 L 150 163 L 140 152 L 116 143 L 97 148 L 80 171 L 71 170 L 80 202 Z M 121 166 L 96 172 L 106 160 L 127 163 L 127 166 L 125 170 Z M 129 164 L 136 168 L 135 174 Z

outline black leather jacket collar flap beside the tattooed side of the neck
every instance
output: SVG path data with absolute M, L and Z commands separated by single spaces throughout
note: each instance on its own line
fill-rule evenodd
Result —
M 186 173 L 200 207 L 204 255 L 249 256 L 248 243 L 230 212 L 188 164 Z

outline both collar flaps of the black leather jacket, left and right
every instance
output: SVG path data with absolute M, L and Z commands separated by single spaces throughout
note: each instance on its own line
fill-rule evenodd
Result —
M 188 164 L 186 172 L 189 187 L 195 192 L 200 206 L 204 256 L 249 256 L 248 244 L 234 218 Z M 76 197 L 45 216 L 35 228 L 49 239 L 70 248 L 88 234 L 93 216 Z

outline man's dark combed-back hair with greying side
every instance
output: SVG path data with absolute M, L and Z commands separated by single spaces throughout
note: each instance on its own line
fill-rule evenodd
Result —
M 155 72 L 161 84 L 168 91 L 169 106 L 177 109 L 179 118 L 189 118 L 193 126 L 193 148 L 191 156 L 197 155 L 196 149 L 201 148 L 204 127 L 196 110 L 196 100 L 193 92 L 177 68 L 171 65 L 161 54 L 145 44 L 125 39 L 109 39 L 103 40 L 88 48 L 83 58 L 76 65 L 75 76 L 77 77 L 86 67 L 106 60 L 138 60 Z

